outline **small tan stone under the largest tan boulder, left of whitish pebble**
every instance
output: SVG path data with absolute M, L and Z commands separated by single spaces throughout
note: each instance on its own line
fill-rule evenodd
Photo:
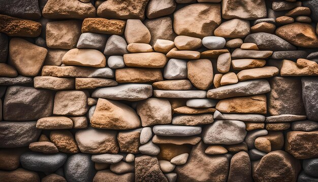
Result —
M 202 46 L 202 40 L 189 36 L 177 36 L 174 39 L 174 45 L 179 50 L 197 50 Z

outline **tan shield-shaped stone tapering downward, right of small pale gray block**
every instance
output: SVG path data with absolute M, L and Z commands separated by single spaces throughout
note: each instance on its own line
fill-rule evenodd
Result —
M 199 89 L 208 89 L 213 83 L 213 68 L 209 59 L 187 62 L 187 78 Z

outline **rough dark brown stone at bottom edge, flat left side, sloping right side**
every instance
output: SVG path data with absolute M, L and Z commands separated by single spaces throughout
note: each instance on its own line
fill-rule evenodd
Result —
M 135 159 L 135 181 L 167 181 L 156 157 L 142 156 Z

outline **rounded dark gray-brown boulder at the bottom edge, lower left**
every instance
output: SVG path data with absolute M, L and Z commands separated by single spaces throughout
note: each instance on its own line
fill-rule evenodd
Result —
M 89 154 L 75 154 L 70 156 L 64 166 L 65 178 L 68 182 L 89 182 L 96 171 Z

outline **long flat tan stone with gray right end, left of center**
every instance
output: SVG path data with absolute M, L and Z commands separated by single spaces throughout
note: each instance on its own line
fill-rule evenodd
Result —
M 110 68 L 44 66 L 42 68 L 42 76 L 113 78 L 115 74 Z

